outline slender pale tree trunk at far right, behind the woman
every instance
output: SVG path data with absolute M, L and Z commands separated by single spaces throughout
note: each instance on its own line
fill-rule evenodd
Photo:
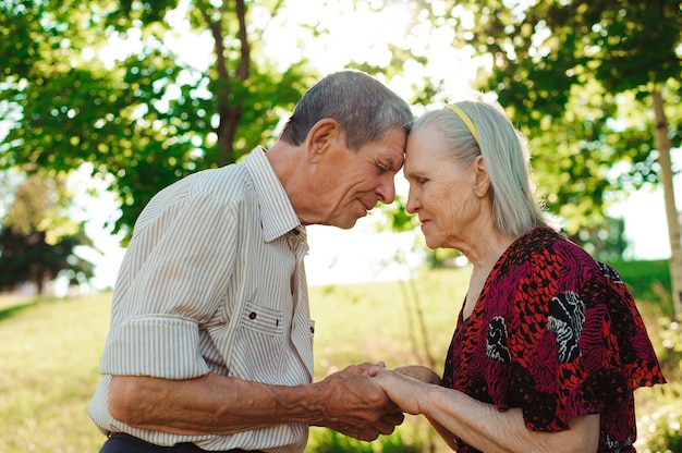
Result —
M 666 217 L 668 218 L 668 235 L 670 236 L 670 280 L 672 284 L 672 306 L 675 319 L 682 318 L 682 245 L 680 243 L 680 216 L 674 201 L 672 186 L 672 162 L 670 159 L 670 137 L 668 135 L 668 120 L 663 110 L 663 99 L 660 90 L 651 91 L 654 103 L 654 139 L 658 148 L 660 164 L 660 183 L 663 186 L 666 199 Z

